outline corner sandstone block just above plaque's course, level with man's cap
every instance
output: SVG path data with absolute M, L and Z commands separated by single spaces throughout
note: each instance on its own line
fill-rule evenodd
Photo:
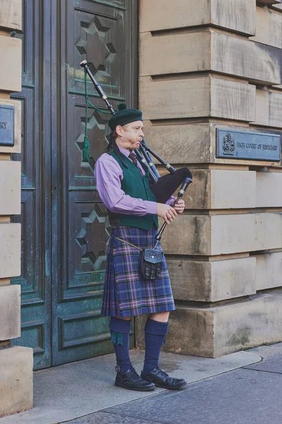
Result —
M 144 119 L 221 117 L 253 121 L 255 86 L 221 78 L 200 77 L 159 81 L 140 78 Z

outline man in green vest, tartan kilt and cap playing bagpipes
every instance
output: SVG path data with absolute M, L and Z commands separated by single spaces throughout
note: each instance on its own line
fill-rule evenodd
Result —
M 168 315 L 175 306 L 166 259 L 155 236 L 158 216 L 170 223 L 178 213 L 183 213 L 185 203 L 180 200 L 173 208 L 173 197 L 166 204 L 156 201 L 149 172 L 134 153 L 144 136 L 142 112 L 126 109 L 125 105 L 118 109 L 109 120 L 113 131 L 109 149 L 94 169 L 97 190 L 109 210 L 112 228 L 102 314 L 111 317 L 109 328 L 117 361 L 115 384 L 140 391 L 153 390 L 155 386 L 181 389 L 185 380 L 169 377 L 158 365 L 168 332 Z M 154 247 L 156 250 L 152 250 Z M 141 376 L 134 370 L 129 355 L 130 320 L 140 314 L 149 314 Z

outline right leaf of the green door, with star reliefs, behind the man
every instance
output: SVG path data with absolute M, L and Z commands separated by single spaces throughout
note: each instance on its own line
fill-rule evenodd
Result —
M 135 3 L 135 2 L 134 2 Z M 136 7 L 135 3 L 135 7 Z M 66 14 L 63 11 L 66 10 Z M 133 30 L 137 11 L 132 1 L 61 1 L 61 97 L 62 164 L 59 187 L 58 282 L 53 285 L 53 363 L 70 362 L 113 351 L 109 319 L 100 315 L 106 264 L 106 208 L 94 182 L 94 163 L 104 153 L 109 114 L 88 110 L 87 128 L 90 163 L 82 163 L 85 133 L 85 86 L 80 62 L 90 63 L 95 78 L 109 101 L 135 96 L 131 68 Z M 137 28 L 137 25 L 134 25 Z M 135 49 L 134 49 L 135 50 Z M 65 55 L 64 55 L 65 54 Z M 67 66 L 66 66 L 67 64 Z M 135 62 L 136 64 L 136 62 Z M 87 84 L 90 101 L 106 110 L 91 81 Z M 55 165 L 56 166 L 56 165 Z M 53 247 L 54 250 L 54 247 Z M 56 249 L 55 249 L 56 250 Z

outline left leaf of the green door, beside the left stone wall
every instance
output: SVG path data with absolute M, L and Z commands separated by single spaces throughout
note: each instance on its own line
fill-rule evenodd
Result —
M 13 344 L 34 349 L 35 369 L 51 366 L 51 276 L 48 57 L 50 33 L 40 29 L 51 25 L 48 1 L 23 1 L 23 76 L 21 93 L 13 98 L 22 105 L 22 153 L 14 155 L 22 164 L 21 276 L 13 283 L 21 285 L 21 337 Z M 46 48 L 47 47 L 47 48 Z M 45 114 L 45 117 L 44 117 Z M 46 127 L 44 131 L 44 127 Z

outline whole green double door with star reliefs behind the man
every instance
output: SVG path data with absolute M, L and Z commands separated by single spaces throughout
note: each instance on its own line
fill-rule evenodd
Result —
M 85 119 L 87 59 L 116 108 L 137 99 L 137 1 L 25 0 L 23 25 L 22 336 L 35 369 L 112 351 L 100 315 L 106 210 L 95 189 L 109 115 Z M 104 108 L 92 83 L 90 100 Z M 28 101 L 28 99 L 30 99 Z M 85 124 L 90 163 L 82 163 Z

